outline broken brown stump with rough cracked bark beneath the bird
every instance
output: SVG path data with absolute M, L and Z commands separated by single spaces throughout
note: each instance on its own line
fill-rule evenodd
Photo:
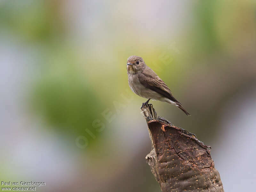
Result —
M 152 104 L 144 106 L 142 113 L 152 141 L 146 160 L 163 192 L 224 192 L 208 146 L 157 116 Z

